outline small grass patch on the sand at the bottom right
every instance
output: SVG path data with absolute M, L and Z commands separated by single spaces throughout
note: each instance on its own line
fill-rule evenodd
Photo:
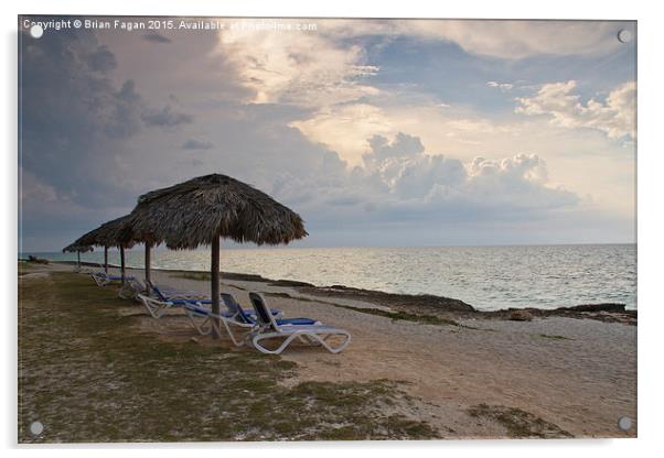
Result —
M 516 407 L 479 404 L 470 407 L 468 413 L 475 418 L 492 419 L 500 423 L 506 429 L 507 437 L 516 439 L 574 437 L 557 425 Z

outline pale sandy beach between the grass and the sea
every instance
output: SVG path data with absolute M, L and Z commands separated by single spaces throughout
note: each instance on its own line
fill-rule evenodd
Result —
M 52 272 L 71 270 L 57 263 L 35 266 L 21 283 L 29 286 L 44 282 Z M 142 276 L 140 270 L 128 274 Z M 203 273 L 196 277 L 156 270 L 152 275 L 157 284 L 208 294 Z M 296 370 L 280 380 L 282 386 L 396 382 L 406 402 L 385 410 L 425 422 L 440 438 L 636 435 L 635 314 L 534 314 L 531 320 L 516 321 L 506 313 L 452 309 L 433 320 L 430 309 L 411 307 L 406 314 L 408 307 L 399 307 L 394 298 L 387 306 L 385 301 L 367 301 L 367 294 L 334 294 L 297 282 L 243 275 L 222 277 L 222 292 L 234 294 L 247 307 L 250 291 L 264 293 L 285 316 L 314 317 L 353 336 L 340 355 L 304 346 L 283 352 L 281 358 L 294 363 Z M 197 336 L 176 309 L 157 320 L 142 306 L 127 302 L 117 314 L 135 318 L 128 332 L 147 332 L 158 341 L 232 347 L 228 339 Z M 628 432 L 618 428 L 622 416 L 634 419 Z

